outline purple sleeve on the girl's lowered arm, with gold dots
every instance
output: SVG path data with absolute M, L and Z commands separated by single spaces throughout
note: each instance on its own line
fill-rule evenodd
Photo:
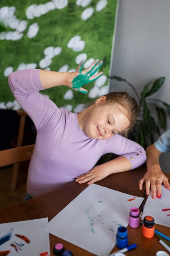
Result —
M 115 134 L 106 143 L 105 153 L 114 153 L 126 157 L 132 164 L 131 169 L 135 169 L 146 161 L 146 152 L 142 146 L 135 141 L 127 139 L 119 134 Z

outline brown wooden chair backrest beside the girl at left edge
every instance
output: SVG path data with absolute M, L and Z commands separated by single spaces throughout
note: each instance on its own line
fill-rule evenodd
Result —
M 35 144 L 0 150 L 0 167 L 30 160 L 34 146 Z

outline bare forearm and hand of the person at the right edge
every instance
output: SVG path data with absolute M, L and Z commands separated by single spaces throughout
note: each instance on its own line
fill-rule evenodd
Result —
M 139 181 L 139 189 L 142 190 L 144 182 L 146 183 L 146 195 L 150 194 L 150 187 L 152 191 L 152 198 L 156 199 L 161 197 L 161 184 L 163 183 L 166 189 L 170 189 L 168 178 L 161 171 L 159 165 L 159 156 L 161 155 L 154 144 L 146 148 L 146 166 L 147 172 L 144 177 Z

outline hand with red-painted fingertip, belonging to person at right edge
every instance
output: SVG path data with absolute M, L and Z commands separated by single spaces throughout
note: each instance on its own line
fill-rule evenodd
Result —
M 139 181 L 139 189 L 143 189 L 143 184 L 146 183 L 146 195 L 150 195 L 150 188 L 152 199 L 161 198 L 161 184 L 166 189 L 170 189 L 168 178 L 161 171 L 160 166 L 153 166 L 152 169 L 147 171 L 144 177 Z

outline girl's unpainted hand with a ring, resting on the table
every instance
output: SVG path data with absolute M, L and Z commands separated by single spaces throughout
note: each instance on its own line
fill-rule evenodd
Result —
M 87 184 L 90 185 L 104 179 L 108 175 L 110 175 L 109 171 L 104 171 L 102 166 L 97 165 L 93 169 L 91 169 L 91 171 L 88 171 L 83 175 L 78 176 L 75 181 L 79 184 L 87 182 Z

